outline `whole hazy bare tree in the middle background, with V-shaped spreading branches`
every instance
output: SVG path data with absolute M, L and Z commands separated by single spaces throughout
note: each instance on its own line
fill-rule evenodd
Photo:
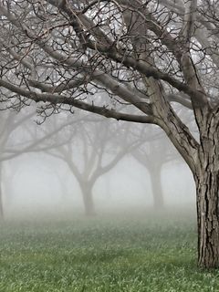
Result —
M 78 181 L 85 214 L 93 215 L 96 213 L 93 198 L 95 183 L 126 154 L 138 148 L 142 140 L 130 137 L 132 133 L 128 124 L 119 126 L 115 122 L 88 118 L 84 117 L 73 129 L 65 131 L 65 136 L 74 137 L 72 141 L 47 153 L 67 163 Z M 53 138 L 62 140 L 61 133 Z

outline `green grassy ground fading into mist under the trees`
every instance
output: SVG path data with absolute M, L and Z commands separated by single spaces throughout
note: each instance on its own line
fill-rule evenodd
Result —
M 196 267 L 195 220 L 181 217 L 4 224 L 0 291 L 219 291 L 219 271 Z

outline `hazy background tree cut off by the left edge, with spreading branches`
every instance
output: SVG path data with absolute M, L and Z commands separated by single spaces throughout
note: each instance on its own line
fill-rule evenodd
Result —
M 5 179 L 4 163 L 11 161 L 18 156 L 26 153 L 36 151 L 48 151 L 53 148 L 62 146 L 68 143 L 72 137 L 63 137 L 61 141 L 52 140 L 53 136 L 56 136 L 59 131 L 63 131 L 65 127 L 71 126 L 75 120 L 59 119 L 58 124 L 53 127 L 49 127 L 49 123 L 53 120 L 47 120 L 43 126 L 37 126 L 35 119 L 36 111 L 22 110 L 17 112 L 16 110 L 1 111 L 0 116 L 0 220 L 4 219 L 5 204 L 4 201 L 8 199 L 9 193 L 3 192 L 7 189 L 5 184 L 13 184 L 13 176 L 15 170 L 10 172 L 10 177 Z M 65 117 L 66 118 L 66 117 Z M 41 120 L 41 119 L 40 119 Z M 53 123 L 54 124 L 54 123 Z M 8 176 L 8 175 L 7 175 Z

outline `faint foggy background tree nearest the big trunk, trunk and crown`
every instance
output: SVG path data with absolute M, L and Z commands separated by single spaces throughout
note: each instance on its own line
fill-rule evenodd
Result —
M 177 113 L 190 125 L 193 133 L 196 134 L 191 112 L 179 109 Z M 189 116 L 188 116 L 189 114 Z M 136 127 L 135 127 L 136 128 Z M 143 134 L 143 137 L 142 137 Z M 153 207 L 155 210 L 162 210 L 165 206 L 163 188 L 162 188 L 162 167 L 170 162 L 174 164 L 182 163 L 183 160 L 177 155 L 177 151 L 172 147 L 170 141 L 164 136 L 164 133 L 156 126 L 147 127 L 144 133 L 141 133 L 142 143 L 135 148 L 131 154 L 149 173 L 151 181 L 151 193 L 153 198 Z

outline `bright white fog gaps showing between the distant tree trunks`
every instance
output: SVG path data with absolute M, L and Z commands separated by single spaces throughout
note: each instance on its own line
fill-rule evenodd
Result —
M 53 208 L 58 210 L 59 207 L 72 212 L 83 212 L 78 183 L 68 173 L 64 163 L 40 153 L 26 154 L 10 164 L 16 174 L 9 194 L 14 200 L 8 206 L 8 214 L 14 211 L 52 212 Z M 66 183 L 67 193 L 63 193 L 59 180 Z M 194 205 L 193 176 L 183 162 L 163 166 L 162 187 L 167 206 Z M 152 207 L 151 183 L 147 170 L 130 157 L 124 158 L 112 171 L 99 178 L 94 187 L 94 198 L 100 212 L 106 209 Z

